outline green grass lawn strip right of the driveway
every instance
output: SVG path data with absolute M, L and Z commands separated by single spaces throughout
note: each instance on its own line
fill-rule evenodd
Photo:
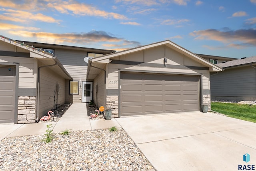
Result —
M 229 117 L 256 123 L 256 105 L 212 102 L 211 108 Z

